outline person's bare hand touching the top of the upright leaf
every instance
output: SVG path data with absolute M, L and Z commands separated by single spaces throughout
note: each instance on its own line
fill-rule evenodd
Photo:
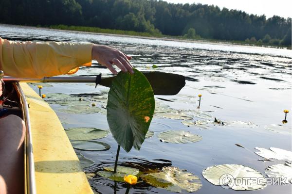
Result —
M 102 66 L 108 67 L 114 75 L 117 74 L 117 71 L 113 68 L 112 64 L 117 65 L 123 72 L 134 73 L 133 66 L 129 62 L 132 57 L 118 49 L 94 44 L 91 51 L 91 58 Z

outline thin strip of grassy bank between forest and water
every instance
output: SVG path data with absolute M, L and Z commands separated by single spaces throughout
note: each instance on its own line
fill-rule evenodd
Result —
M 82 26 L 23 26 L 23 25 L 14 25 L 14 24 L 0 24 L 7 26 L 21 26 L 27 28 L 37 28 L 37 29 L 51 29 L 58 31 L 67 31 L 67 32 L 86 32 L 93 34 L 101 34 L 101 35 L 111 35 L 111 36 L 122 36 L 122 37 L 134 37 L 134 38 L 143 38 L 143 39 L 156 39 L 156 40 L 167 40 L 167 41 L 178 41 L 178 42 L 187 42 L 187 43 L 209 43 L 209 44 L 224 44 L 224 45 L 241 45 L 241 46 L 250 46 L 250 47 L 265 47 L 265 48 L 274 48 L 274 49 L 291 49 L 291 47 L 281 46 L 276 47 L 274 45 L 269 44 L 247 44 L 244 41 L 228 41 L 228 40 L 215 40 L 215 39 L 187 39 L 183 38 L 183 36 L 168 36 L 164 34 L 152 35 L 147 32 L 134 32 L 134 31 L 122 31 L 122 30 L 111 30 L 111 29 L 101 29 L 96 27 L 82 27 Z M 60 28 L 61 26 L 61 28 Z M 73 28 L 73 29 L 72 29 Z M 79 29 L 79 30 L 78 30 Z M 86 31 L 89 29 L 89 31 Z M 92 32 L 92 30 L 96 30 L 97 32 Z M 100 32 L 98 32 L 100 31 Z M 105 31 L 105 32 L 103 32 Z M 131 34 L 129 34 L 131 33 Z

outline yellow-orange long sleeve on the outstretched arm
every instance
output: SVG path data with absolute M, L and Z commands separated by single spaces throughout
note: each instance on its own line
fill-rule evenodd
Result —
M 91 66 L 92 45 L 0 38 L 0 69 L 5 75 L 18 78 L 73 74 L 80 66 Z

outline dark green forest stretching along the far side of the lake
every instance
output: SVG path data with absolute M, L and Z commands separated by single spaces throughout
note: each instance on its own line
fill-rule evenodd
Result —
M 0 23 L 87 26 L 290 47 L 292 36 L 291 18 L 162 0 L 0 0 Z

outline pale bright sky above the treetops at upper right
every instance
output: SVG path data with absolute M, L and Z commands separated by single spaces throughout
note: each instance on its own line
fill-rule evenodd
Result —
M 248 14 L 292 17 L 292 0 L 164 0 L 171 3 L 201 3 L 217 5 L 220 9 L 237 9 Z

